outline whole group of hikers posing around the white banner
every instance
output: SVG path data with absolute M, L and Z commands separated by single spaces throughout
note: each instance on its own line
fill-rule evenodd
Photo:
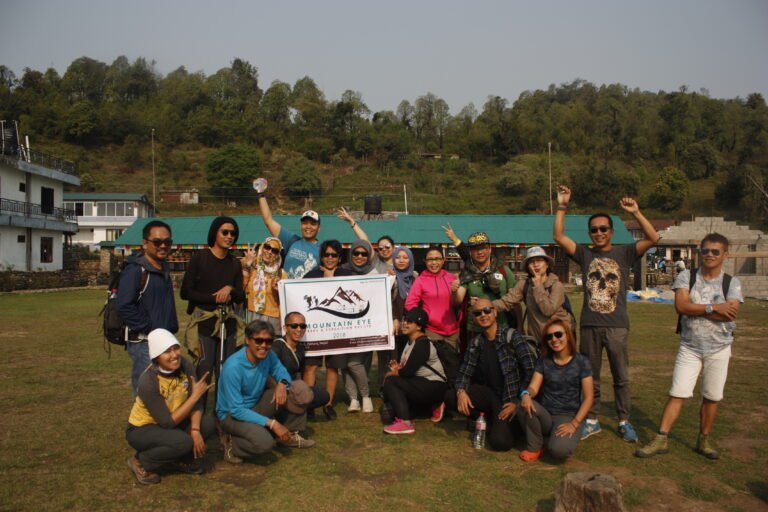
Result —
M 545 451 L 563 459 L 580 440 L 601 432 L 600 374 L 605 349 L 613 377 L 618 434 L 638 437 L 629 421 L 626 288 L 635 261 L 659 236 L 637 203 L 620 206 L 640 224 L 645 238 L 629 245 L 612 243 L 613 220 L 589 218 L 590 245 L 565 234 L 571 191 L 558 189 L 553 236 L 561 250 L 581 266 L 584 305 L 576 320 L 554 260 L 531 247 L 518 279 L 509 264 L 496 260 L 485 232 L 466 241 L 450 225 L 446 235 L 464 261 L 457 276 L 446 271 L 439 246 L 430 247 L 425 271 L 414 271 L 414 255 L 382 237 L 372 246 L 361 226 L 343 208 L 339 217 L 357 236 L 342 263 L 338 240 L 320 242 L 321 219 L 304 212 L 300 235 L 272 217 L 258 193 L 270 232 L 258 247 L 248 246 L 242 261 L 231 251 L 239 229 L 229 217 L 210 226 L 208 248 L 195 253 L 181 286 L 191 315 L 186 347 L 197 363 L 181 356 L 174 336 L 178 321 L 165 262 L 171 229 L 162 221 L 144 227 L 142 251 L 131 256 L 121 277 L 118 304 L 130 327 L 127 349 L 133 361 L 136 393 L 126 433 L 136 454 L 128 465 L 141 483 L 156 483 L 158 470 L 172 466 L 199 473 L 205 440 L 218 427 L 224 458 L 270 451 L 276 443 L 294 448 L 314 445 L 302 435 L 308 415 L 321 410 L 337 417 L 339 380 L 349 398 L 347 411 L 374 412 L 371 389 L 381 393 L 387 434 L 413 434 L 415 418 L 442 420 L 446 412 L 488 422 L 488 445 L 510 450 L 525 444 L 520 458 L 538 459 Z M 743 301 L 736 278 L 723 282 L 728 241 L 717 234 L 702 240 L 702 268 L 681 272 L 673 288 L 680 313 L 681 348 L 659 434 L 637 450 L 640 457 L 667 451 L 667 435 L 684 400 L 704 372 L 702 425 L 697 450 L 717 456 L 709 441 L 727 373 L 733 320 Z M 277 283 L 281 279 L 390 274 L 395 350 L 376 354 L 378 379 L 369 379 L 373 354 L 307 357 L 302 339 L 307 323 L 300 312 L 280 318 Z M 697 279 L 698 276 L 698 279 Z M 718 293 L 719 292 L 719 293 Z M 245 313 L 239 311 L 244 306 Z M 524 308 L 523 308 L 524 306 Z M 242 348 L 238 347 L 244 345 Z M 325 385 L 317 384 L 325 366 Z M 205 414 L 211 378 L 216 379 L 214 414 Z M 548 438 L 548 440 L 547 440 Z

